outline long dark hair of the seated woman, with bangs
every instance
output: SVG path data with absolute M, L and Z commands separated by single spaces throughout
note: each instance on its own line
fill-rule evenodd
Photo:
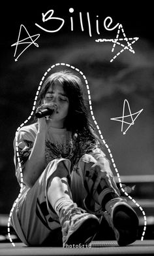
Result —
M 70 71 L 57 71 L 52 73 L 43 83 L 40 93 L 38 95 L 36 109 L 42 104 L 46 92 L 50 86 L 54 86 L 58 81 L 63 85 L 63 90 L 69 98 L 69 113 L 65 119 L 65 128 L 72 131 L 72 133 L 84 133 L 89 139 L 98 140 L 93 126 L 89 121 L 87 105 L 84 98 L 83 84 L 77 75 Z

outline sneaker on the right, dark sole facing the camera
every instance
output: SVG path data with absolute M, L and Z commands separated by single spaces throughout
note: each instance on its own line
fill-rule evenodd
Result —
M 139 225 L 138 216 L 126 203 L 126 200 L 121 198 L 110 200 L 106 204 L 104 218 L 114 230 L 119 246 L 127 246 L 136 241 Z

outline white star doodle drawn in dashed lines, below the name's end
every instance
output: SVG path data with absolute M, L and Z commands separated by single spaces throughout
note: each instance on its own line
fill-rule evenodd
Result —
M 123 38 L 119 38 L 120 29 L 123 33 Z M 116 36 L 115 39 L 96 39 L 95 41 L 97 43 L 103 43 L 103 42 L 112 42 L 112 43 L 114 43 L 114 45 L 112 47 L 112 52 L 114 52 L 115 45 L 122 46 L 122 49 L 119 52 L 117 52 L 117 54 L 115 54 L 115 56 L 110 60 L 110 62 L 113 62 L 115 60 L 115 58 L 117 58 L 117 56 L 119 56 L 122 52 L 124 52 L 124 50 L 129 50 L 130 52 L 132 52 L 134 54 L 135 52 L 132 49 L 132 45 L 136 41 L 138 41 L 138 39 L 139 39 L 139 37 L 130 37 L 130 38 L 126 37 L 122 24 L 119 24 L 118 30 L 117 30 L 117 36 Z M 126 41 L 127 45 L 123 45 L 123 43 L 119 43 L 119 41 Z M 130 43 L 130 41 L 132 41 L 132 42 Z

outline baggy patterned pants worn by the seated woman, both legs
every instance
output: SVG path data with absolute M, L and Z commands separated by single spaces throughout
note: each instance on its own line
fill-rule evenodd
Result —
M 52 160 L 35 185 L 22 194 L 12 213 L 11 224 L 22 242 L 28 246 L 48 246 L 48 242 L 50 246 L 53 246 L 57 245 L 58 238 L 61 241 L 61 225 L 48 201 L 47 187 L 62 162 L 68 172 L 68 182 L 64 184 L 65 192 L 70 195 L 78 207 L 101 215 L 104 210 L 103 205 L 108 200 L 119 196 L 106 185 L 103 179 L 95 194 L 93 193 L 93 185 L 97 179 L 97 173 L 91 170 L 91 166 L 96 162 L 93 156 L 87 154 L 82 156 L 71 174 L 70 160 L 65 158 Z

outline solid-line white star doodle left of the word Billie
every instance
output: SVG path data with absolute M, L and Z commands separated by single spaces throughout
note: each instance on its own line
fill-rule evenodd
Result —
M 40 36 L 40 34 L 37 34 L 37 35 L 29 35 L 29 37 L 26 37 L 25 39 L 22 39 L 22 40 L 19 41 L 19 39 L 20 39 L 20 33 L 21 33 L 21 30 L 22 30 L 22 27 L 25 29 L 25 31 L 26 31 L 27 34 L 29 35 L 29 33 L 28 33 L 27 29 L 25 28 L 25 26 L 20 25 L 20 31 L 19 31 L 19 35 L 18 35 L 18 41 L 17 41 L 16 43 L 14 43 L 13 45 L 11 45 L 11 46 L 16 46 L 16 49 L 15 49 L 15 51 L 14 51 L 14 57 L 16 57 L 16 51 L 17 51 L 18 45 L 23 45 L 23 44 L 25 44 L 25 45 L 27 45 L 27 46 L 22 50 L 22 52 L 20 52 L 20 54 L 17 56 L 17 58 L 15 58 L 15 62 L 18 61 L 18 58 L 23 54 L 23 52 L 24 52 L 25 50 L 27 50 L 27 48 L 28 48 L 29 46 L 35 45 L 36 47 L 38 47 L 38 44 L 35 43 L 35 41 L 38 39 L 38 37 Z M 35 40 L 32 39 L 32 38 L 34 38 L 34 37 L 35 37 Z M 28 41 L 27 39 L 30 39 L 30 41 Z

